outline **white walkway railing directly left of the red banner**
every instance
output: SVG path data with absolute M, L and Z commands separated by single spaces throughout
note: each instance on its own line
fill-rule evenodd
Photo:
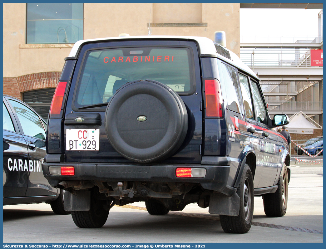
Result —
M 310 67 L 310 48 L 241 48 L 240 58 L 253 67 Z

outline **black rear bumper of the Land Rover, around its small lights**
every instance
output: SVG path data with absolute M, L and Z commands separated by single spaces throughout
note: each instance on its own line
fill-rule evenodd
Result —
M 50 175 L 50 166 L 73 166 L 75 175 Z M 176 168 L 205 168 L 202 178 L 176 177 Z M 121 164 L 85 164 L 85 163 L 43 163 L 43 174 L 52 187 L 63 180 L 79 181 L 137 181 L 137 182 L 181 182 L 200 183 L 204 189 L 222 192 L 227 185 L 230 166 L 218 165 L 121 165 Z

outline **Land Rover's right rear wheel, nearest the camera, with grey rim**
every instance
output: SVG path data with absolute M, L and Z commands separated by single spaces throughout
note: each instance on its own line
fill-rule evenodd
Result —
M 226 233 L 246 233 L 249 231 L 254 215 L 254 180 L 247 164 L 236 192 L 240 197 L 238 216 L 220 215 L 223 231 Z

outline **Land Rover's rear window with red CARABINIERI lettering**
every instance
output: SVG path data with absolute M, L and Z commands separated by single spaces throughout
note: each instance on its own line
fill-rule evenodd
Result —
M 193 61 L 188 48 L 137 47 L 90 50 L 86 53 L 75 105 L 109 102 L 127 82 L 159 81 L 179 95 L 192 94 Z

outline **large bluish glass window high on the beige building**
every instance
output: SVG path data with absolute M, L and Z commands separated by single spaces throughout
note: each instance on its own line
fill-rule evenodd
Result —
M 27 4 L 26 44 L 75 43 L 83 39 L 83 4 Z

